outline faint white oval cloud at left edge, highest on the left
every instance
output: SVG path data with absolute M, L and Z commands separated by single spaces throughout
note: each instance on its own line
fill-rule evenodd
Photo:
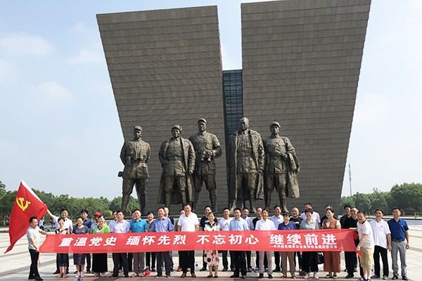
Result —
M 0 36 L 0 50 L 18 55 L 45 56 L 53 50 L 53 46 L 39 36 L 13 32 Z

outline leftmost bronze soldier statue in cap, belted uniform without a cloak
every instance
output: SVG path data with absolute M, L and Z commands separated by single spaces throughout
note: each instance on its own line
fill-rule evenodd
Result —
M 123 170 L 123 192 L 122 192 L 122 210 L 126 211 L 129 197 L 132 194 L 134 185 L 136 185 L 136 194 L 138 195 L 139 209 L 142 214 L 146 214 L 146 192 L 148 188 L 148 166 L 151 148 L 148 143 L 141 140 L 142 127 L 134 127 L 134 139 L 124 142 L 120 152 L 120 159 L 124 164 Z

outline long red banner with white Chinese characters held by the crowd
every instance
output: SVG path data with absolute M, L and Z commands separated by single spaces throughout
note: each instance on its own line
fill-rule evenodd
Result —
M 354 231 L 348 229 L 48 235 L 40 252 L 354 251 L 353 237 Z

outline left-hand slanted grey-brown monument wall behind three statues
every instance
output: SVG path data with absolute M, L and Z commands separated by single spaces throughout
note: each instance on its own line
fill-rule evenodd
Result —
M 172 125 L 180 124 L 188 138 L 204 117 L 207 131 L 217 135 L 224 150 L 217 6 L 101 14 L 97 20 L 124 139 L 131 139 L 133 127 L 141 125 L 143 140 L 151 145 L 147 209 L 155 211 L 158 150 L 171 137 Z M 217 173 L 222 209 L 227 204 L 224 157 L 217 159 Z M 118 195 L 121 187 L 115 190 Z M 205 204 L 209 200 L 203 187 L 199 214 Z M 176 215 L 179 209 L 171 210 Z

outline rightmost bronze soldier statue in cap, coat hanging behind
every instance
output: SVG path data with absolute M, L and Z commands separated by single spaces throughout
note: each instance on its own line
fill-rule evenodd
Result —
M 279 122 L 269 124 L 271 136 L 264 138 L 264 201 L 265 209 L 271 205 L 271 193 L 279 193 L 281 209 L 288 211 L 286 197 L 299 197 L 298 172 L 299 161 L 295 148 L 285 136 L 279 136 Z

